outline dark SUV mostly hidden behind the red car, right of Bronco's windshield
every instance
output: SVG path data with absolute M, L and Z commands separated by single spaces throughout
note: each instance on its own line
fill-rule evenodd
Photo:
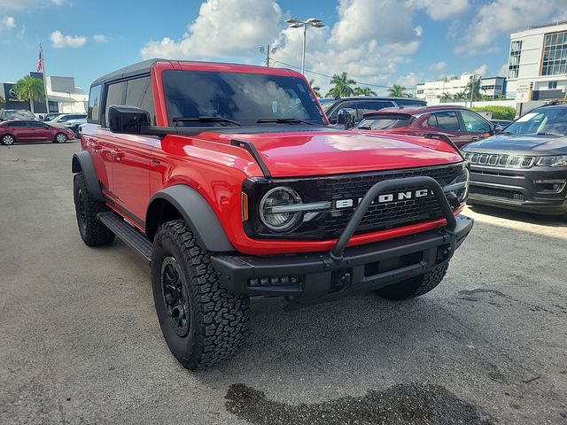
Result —
M 352 109 L 355 113 L 355 122 L 362 120 L 366 112 L 378 111 L 384 108 L 399 108 L 405 106 L 426 106 L 424 100 L 411 99 L 409 97 L 343 97 L 337 99 L 329 107 L 325 107 L 325 113 L 331 124 L 337 124 L 338 111 L 341 109 Z

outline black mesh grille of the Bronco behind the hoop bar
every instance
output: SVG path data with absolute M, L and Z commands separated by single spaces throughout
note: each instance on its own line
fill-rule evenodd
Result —
M 435 179 L 441 187 L 453 182 L 461 173 L 462 166 L 444 166 L 407 170 L 405 172 L 390 172 L 377 174 L 353 175 L 350 177 L 325 178 L 318 182 L 319 189 L 329 199 L 357 199 L 377 182 L 404 177 L 429 176 Z M 400 188 L 401 191 L 423 189 L 421 187 Z M 354 209 L 346 209 L 327 216 L 324 227 L 333 236 L 338 236 L 353 216 Z M 334 216 L 333 216 L 334 215 Z M 364 215 L 356 234 L 379 231 L 387 228 L 408 226 L 427 220 L 436 220 L 443 216 L 435 198 L 428 197 L 407 199 L 388 204 L 370 205 Z

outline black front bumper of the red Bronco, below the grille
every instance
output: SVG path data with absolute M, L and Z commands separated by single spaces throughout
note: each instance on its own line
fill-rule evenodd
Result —
M 211 260 L 221 284 L 229 290 L 290 296 L 298 305 L 311 305 L 423 274 L 448 261 L 472 225 L 472 219 L 459 215 L 453 231 L 439 228 L 353 246 L 346 248 L 340 259 L 333 259 L 330 252 L 313 252 L 268 257 L 215 255 Z

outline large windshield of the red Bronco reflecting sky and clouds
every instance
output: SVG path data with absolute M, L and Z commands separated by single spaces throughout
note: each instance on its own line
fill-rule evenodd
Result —
M 325 123 L 313 93 L 300 78 L 262 73 L 165 71 L 163 85 L 170 125 L 227 125 L 214 120 L 175 121 L 198 117 L 222 117 L 243 126 L 258 125 L 257 121 L 263 119 Z

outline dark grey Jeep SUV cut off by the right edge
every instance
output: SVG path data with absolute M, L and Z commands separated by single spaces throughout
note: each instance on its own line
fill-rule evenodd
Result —
M 474 204 L 567 213 L 567 104 L 536 108 L 463 151 Z

